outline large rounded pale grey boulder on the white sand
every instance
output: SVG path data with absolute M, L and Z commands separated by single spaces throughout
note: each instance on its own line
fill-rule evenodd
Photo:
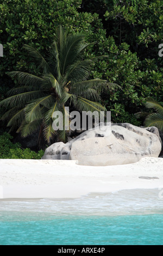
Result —
M 46 149 L 42 159 L 78 160 L 78 164 L 107 166 L 158 157 L 161 139 L 156 127 L 131 124 L 105 124 L 80 134 L 66 144 L 59 142 Z

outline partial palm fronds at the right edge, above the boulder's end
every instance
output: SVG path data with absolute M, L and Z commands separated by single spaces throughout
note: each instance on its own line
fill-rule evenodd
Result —
M 146 107 L 154 108 L 156 112 L 147 115 L 145 125 L 156 126 L 158 129 L 163 131 L 163 107 L 152 98 L 147 100 Z

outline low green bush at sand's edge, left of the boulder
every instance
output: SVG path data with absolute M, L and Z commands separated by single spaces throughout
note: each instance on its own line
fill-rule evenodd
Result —
M 43 150 L 38 153 L 28 148 L 22 149 L 20 143 L 12 143 L 12 136 L 4 132 L 0 136 L 0 159 L 41 159 Z

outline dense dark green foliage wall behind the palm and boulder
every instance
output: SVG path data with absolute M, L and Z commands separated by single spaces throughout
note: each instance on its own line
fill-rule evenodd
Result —
M 68 33 L 82 33 L 87 50 L 82 58 L 106 55 L 92 66 L 89 79 L 107 80 L 120 88 L 101 92 L 98 102 L 111 110 L 111 120 L 143 125 L 150 112 L 146 98 L 163 102 L 162 61 L 159 45 L 163 32 L 163 1 L 160 0 L 3 0 L 0 1 L 1 100 L 16 86 L 6 72 L 21 71 L 41 76 L 41 70 L 23 45 L 47 57 L 61 25 Z M 94 42 L 94 44 L 90 44 Z M 1 116 L 9 108 L 1 107 Z M 6 130 L 2 123 L 2 132 Z M 16 127 L 14 127 L 16 128 Z M 7 130 L 8 131 L 8 130 Z

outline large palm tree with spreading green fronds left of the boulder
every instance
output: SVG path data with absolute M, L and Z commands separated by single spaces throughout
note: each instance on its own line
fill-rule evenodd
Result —
M 105 110 L 98 102 L 106 81 L 88 80 L 92 63 L 98 58 L 83 59 L 82 52 L 88 45 L 83 35 L 68 35 L 59 26 L 47 58 L 33 47 L 24 46 L 41 67 L 42 75 L 21 71 L 7 73 L 20 84 L 0 102 L 0 105 L 10 108 L 2 117 L 9 120 L 9 132 L 18 127 L 17 132 L 26 137 L 39 128 L 39 138 L 43 135 L 49 143 L 57 132 L 52 127 L 55 111 L 61 111 L 65 117 L 68 114 L 65 106 L 73 106 L 78 111 Z M 66 131 L 58 131 L 57 137 L 66 142 Z

